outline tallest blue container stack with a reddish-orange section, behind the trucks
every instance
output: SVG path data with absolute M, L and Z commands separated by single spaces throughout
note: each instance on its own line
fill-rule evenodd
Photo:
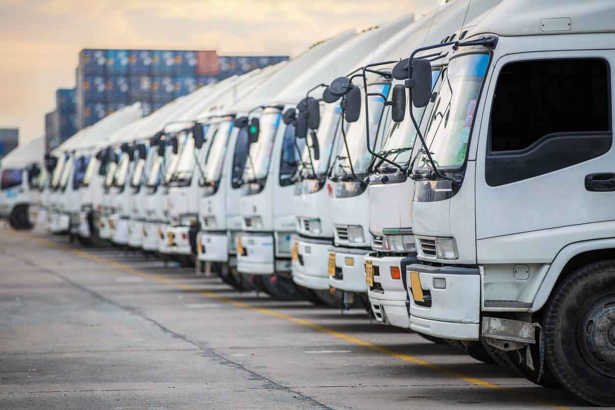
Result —
M 77 68 L 77 129 L 137 101 L 149 115 L 204 85 L 285 60 L 288 56 L 219 57 L 207 50 L 85 49 Z

